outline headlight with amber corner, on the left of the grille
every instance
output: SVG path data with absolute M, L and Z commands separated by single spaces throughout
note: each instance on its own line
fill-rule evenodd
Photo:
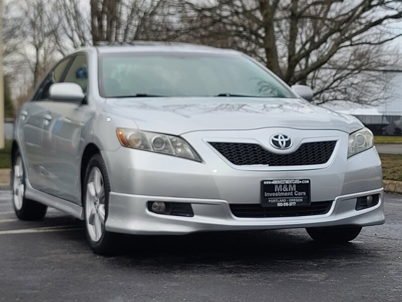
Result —
M 126 128 L 118 128 L 116 133 L 124 147 L 202 161 L 190 144 L 179 136 Z

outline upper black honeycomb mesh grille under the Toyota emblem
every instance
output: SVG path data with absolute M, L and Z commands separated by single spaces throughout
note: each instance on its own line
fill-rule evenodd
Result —
M 306 142 L 293 153 L 276 154 L 256 143 L 210 142 L 234 165 L 303 166 L 325 164 L 336 141 Z

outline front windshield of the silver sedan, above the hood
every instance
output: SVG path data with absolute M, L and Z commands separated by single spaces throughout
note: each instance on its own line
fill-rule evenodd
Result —
M 252 60 L 211 53 L 102 54 L 99 90 L 103 97 L 295 97 Z

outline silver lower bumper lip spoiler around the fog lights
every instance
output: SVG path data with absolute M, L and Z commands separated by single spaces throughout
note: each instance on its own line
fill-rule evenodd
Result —
M 359 196 L 380 194 L 377 205 L 356 211 Z M 147 209 L 148 201 L 188 202 L 193 217 L 162 215 Z M 385 221 L 383 189 L 335 198 L 330 211 L 323 215 L 239 218 L 232 214 L 229 202 L 218 199 L 176 198 L 131 195 L 111 192 L 106 230 L 136 235 L 182 235 L 200 231 L 270 230 L 336 225 L 375 225 Z

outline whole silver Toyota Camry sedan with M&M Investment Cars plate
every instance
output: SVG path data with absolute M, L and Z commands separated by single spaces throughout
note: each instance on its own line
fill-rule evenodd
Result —
M 381 162 L 356 118 L 252 58 L 185 44 L 98 46 L 58 62 L 19 111 L 14 207 L 116 233 L 306 228 L 347 242 L 384 223 Z

